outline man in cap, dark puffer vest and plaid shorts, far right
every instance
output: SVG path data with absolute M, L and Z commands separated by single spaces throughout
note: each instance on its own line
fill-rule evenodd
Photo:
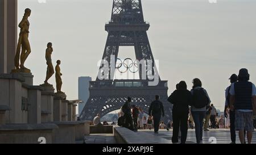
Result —
M 251 144 L 253 137 L 253 113 L 256 107 L 256 88 L 249 82 L 250 75 L 247 69 L 240 69 L 238 82 L 232 83 L 230 87 L 230 110 L 235 110 L 235 129 L 239 131 L 241 144 L 245 144 L 245 134 L 247 131 L 247 141 Z

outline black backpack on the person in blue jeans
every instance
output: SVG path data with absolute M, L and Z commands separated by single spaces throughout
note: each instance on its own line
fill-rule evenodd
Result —
M 193 89 L 193 97 L 192 97 L 192 105 L 196 108 L 203 108 L 207 106 L 209 103 L 209 99 L 205 94 L 203 88 L 201 89 Z

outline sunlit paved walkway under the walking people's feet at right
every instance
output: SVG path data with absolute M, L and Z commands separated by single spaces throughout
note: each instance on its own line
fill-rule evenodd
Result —
M 161 129 L 158 134 L 155 134 L 154 131 L 152 131 L 152 130 L 151 131 L 140 130 L 139 132 L 146 132 L 146 133 L 160 136 L 164 139 L 170 140 L 170 143 L 171 143 L 172 129 L 170 129 L 170 131 L 166 131 L 166 129 L 165 130 Z M 237 138 L 236 143 L 240 144 L 238 132 L 237 132 L 236 138 Z M 214 140 L 216 140 L 216 141 L 214 141 Z M 217 144 L 229 144 L 231 142 L 229 129 L 210 129 L 210 131 L 203 132 L 203 143 L 204 144 L 210 144 L 210 143 L 215 143 L 215 142 Z M 193 144 L 193 143 L 196 143 L 195 130 L 189 129 L 188 136 L 187 136 L 187 144 Z M 256 132 L 253 133 L 252 143 L 256 144 Z

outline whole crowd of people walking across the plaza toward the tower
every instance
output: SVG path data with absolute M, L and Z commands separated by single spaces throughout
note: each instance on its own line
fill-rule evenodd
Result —
M 173 104 L 172 122 L 169 121 L 167 125 L 164 122 L 160 123 L 161 117 L 164 117 L 164 107 L 156 95 L 147 118 L 141 107 L 130 105 L 132 99 L 128 97 L 119 112 L 118 125 L 133 131 L 154 128 L 156 134 L 159 128 L 173 128 L 172 143 L 178 143 L 181 135 L 181 144 L 187 140 L 188 128 L 195 128 L 196 143 L 201 144 L 203 131 L 209 131 L 208 128 L 228 127 L 232 144 L 236 143 L 236 131 L 239 131 L 242 144 L 246 143 L 245 134 L 247 143 L 250 144 L 254 131 L 253 116 L 256 114 L 256 88 L 249 82 L 249 77 L 248 70 L 241 69 L 238 76 L 232 74 L 229 78 L 231 85 L 225 91 L 224 115 L 218 116 L 216 108 L 210 104 L 207 90 L 202 87 L 200 79 L 195 78 L 191 91 L 187 89 L 185 81 L 180 81 L 176 85 L 176 90 L 168 97 L 168 102 Z M 225 119 L 228 117 L 229 119 Z M 97 121 L 97 116 L 94 119 Z

